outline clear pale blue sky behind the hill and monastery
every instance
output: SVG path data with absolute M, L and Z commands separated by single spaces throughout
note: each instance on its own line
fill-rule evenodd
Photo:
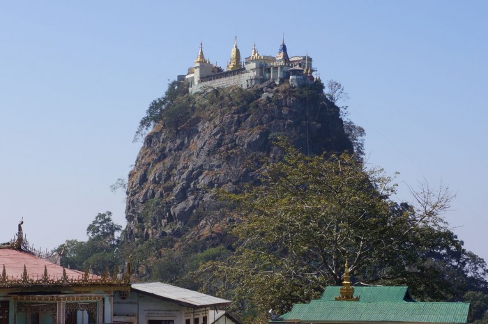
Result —
M 168 80 L 234 35 L 275 55 L 308 53 L 342 82 L 367 161 L 399 171 L 397 199 L 425 178 L 457 194 L 449 226 L 488 259 L 488 1 L 0 1 L 0 242 L 86 240 L 111 210 L 125 225 L 132 137 Z

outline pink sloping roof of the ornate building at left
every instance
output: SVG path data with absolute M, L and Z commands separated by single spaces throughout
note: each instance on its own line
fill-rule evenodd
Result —
M 15 249 L 0 249 L 0 275 L 5 265 L 8 278 L 20 278 L 24 273 L 24 265 L 26 267 L 29 278 L 40 279 L 44 275 L 44 268 L 47 268 L 47 275 L 50 278 L 63 277 L 63 267 L 39 259 L 37 256 L 33 256 L 29 253 L 17 251 Z M 65 269 L 66 276 L 73 279 L 81 279 L 84 272 L 78 270 Z M 98 276 L 90 275 L 92 278 Z

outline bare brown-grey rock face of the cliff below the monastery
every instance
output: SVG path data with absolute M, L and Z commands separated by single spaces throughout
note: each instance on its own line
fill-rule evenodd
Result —
M 234 191 L 256 181 L 261 158 L 279 154 L 275 137 L 288 137 L 310 154 L 353 149 L 339 108 L 321 86 L 211 89 L 191 100 L 197 108 L 181 108 L 191 111 L 187 119 L 177 127 L 163 121 L 144 139 L 128 179 L 129 241 L 218 231 L 231 218 L 206 210 L 212 189 Z

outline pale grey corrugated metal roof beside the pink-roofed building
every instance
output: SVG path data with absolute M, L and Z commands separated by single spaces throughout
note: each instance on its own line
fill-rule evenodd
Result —
M 139 293 L 151 295 L 162 300 L 169 300 L 187 307 L 213 307 L 226 306 L 231 302 L 222 298 L 213 297 L 197 291 L 163 284 L 162 282 L 151 282 L 147 284 L 132 284 L 132 289 Z

